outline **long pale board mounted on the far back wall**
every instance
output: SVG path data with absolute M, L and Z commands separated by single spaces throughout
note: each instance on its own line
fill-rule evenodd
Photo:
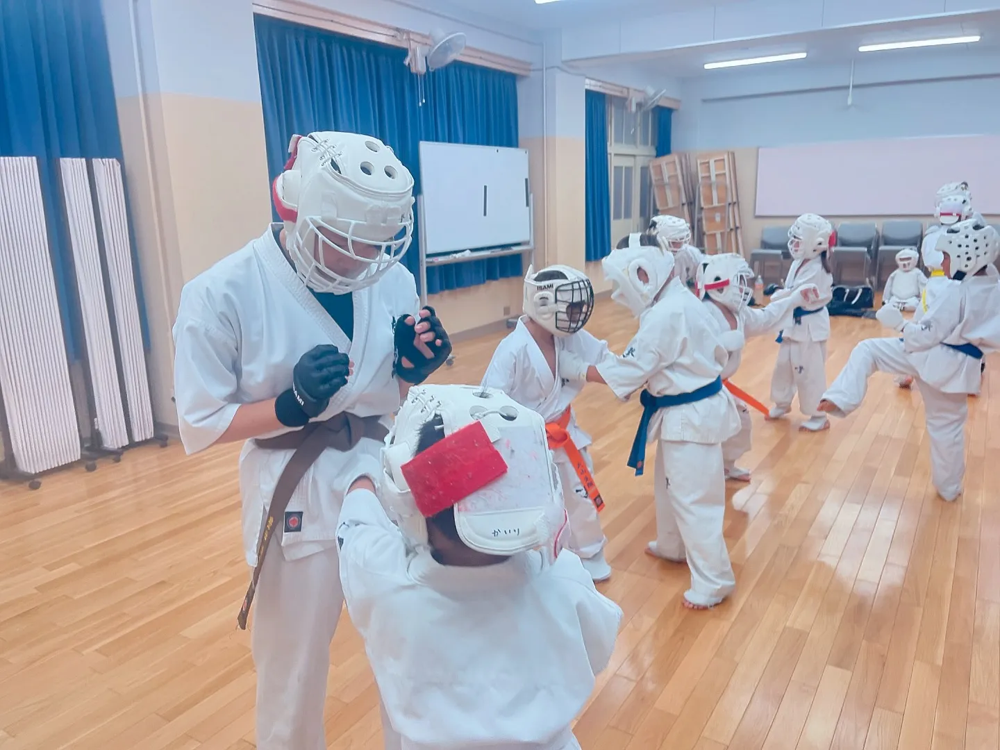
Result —
M 757 216 L 927 216 L 947 182 L 1000 213 L 1000 136 L 891 138 L 762 148 Z

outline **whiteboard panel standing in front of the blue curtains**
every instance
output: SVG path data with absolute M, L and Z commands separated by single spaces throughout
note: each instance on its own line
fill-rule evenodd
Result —
M 421 141 L 420 183 L 427 255 L 531 239 L 526 149 Z

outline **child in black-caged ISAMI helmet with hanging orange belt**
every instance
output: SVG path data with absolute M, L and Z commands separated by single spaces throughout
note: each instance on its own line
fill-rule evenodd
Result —
M 537 274 L 529 268 L 524 315 L 493 353 L 482 385 L 499 388 L 545 419 L 569 512 L 569 548 L 594 581 L 604 581 L 611 576 L 597 515 L 604 501 L 587 450 L 590 435 L 580 429 L 572 407 L 584 383 L 566 379 L 560 367 L 567 356 L 597 364 L 608 355 L 607 344 L 583 330 L 593 309 L 594 288 L 586 274 L 569 266 L 550 266 Z

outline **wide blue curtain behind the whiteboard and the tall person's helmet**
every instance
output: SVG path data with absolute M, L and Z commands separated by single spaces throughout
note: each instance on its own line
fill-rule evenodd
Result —
M 420 141 L 518 145 L 517 79 L 510 73 L 452 63 L 419 79 L 406 50 L 308 26 L 254 16 L 264 103 L 267 160 L 273 180 L 291 136 L 314 130 L 374 135 L 392 146 L 420 192 Z M 419 238 L 404 258 L 416 274 Z M 427 269 L 427 291 L 474 286 L 521 274 L 520 256 Z

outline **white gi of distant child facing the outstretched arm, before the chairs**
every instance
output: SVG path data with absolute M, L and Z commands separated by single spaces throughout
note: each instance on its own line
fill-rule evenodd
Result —
M 820 416 L 816 410 L 826 388 L 826 341 L 830 338 L 830 313 L 827 303 L 833 299 L 833 276 L 823 270 L 820 258 L 792 261 L 785 279 L 785 288 L 771 297 L 772 304 L 790 296 L 803 284 L 815 284 L 819 299 L 805 310 L 818 310 L 787 326 L 782 332 L 778 360 L 771 378 L 771 400 L 778 409 L 788 411 L 795 392 L 799 394 L 799 409 L 807 417 Z

